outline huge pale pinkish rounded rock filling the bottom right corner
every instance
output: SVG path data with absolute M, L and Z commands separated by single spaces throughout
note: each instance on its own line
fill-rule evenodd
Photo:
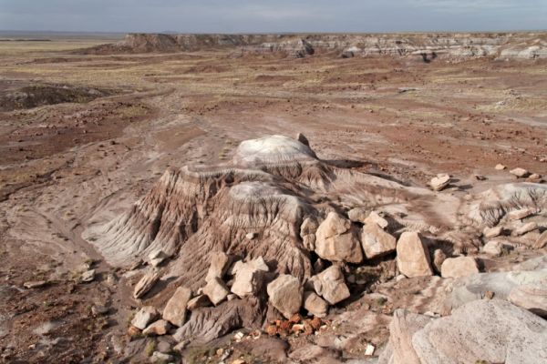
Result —
M 470 302 L 412 337 L 422 364 L 544 363 L 546 342 L 547 321 L 501 299 Z

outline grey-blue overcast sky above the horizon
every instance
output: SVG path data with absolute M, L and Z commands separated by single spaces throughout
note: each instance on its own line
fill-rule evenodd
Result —
M 0 29 L 267 33 L 547 28 L 547 0 L 0 0 Z

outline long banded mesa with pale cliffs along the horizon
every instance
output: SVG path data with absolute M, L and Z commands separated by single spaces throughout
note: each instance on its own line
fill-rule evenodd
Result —
M 302 58 L 331 55 L 413 56 L 429 63 L 438 57 L 547 57 L 547 33 L 439 34 L 129 34 L 118 43 L 77 51 L 83 54 L 139 54 L 233 49 L 234 55 L 279 54 Z

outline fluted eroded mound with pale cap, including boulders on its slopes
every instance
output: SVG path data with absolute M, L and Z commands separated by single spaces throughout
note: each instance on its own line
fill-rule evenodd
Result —
M 542 185 L 511 184 L 460 200 L 334 167 L 301 135 L 266 136 L 241 143 L 229 163 L 169 169 L 128 212 L 84 237 L 112 265 L 149 266 L 135 298 L 162 306 L 175 289 L 189 292 L 192 302 L 175 293 L 167 307 L 188 307 L 190 318 L 173 321 L 168 308 L 164 318 L 180 327 L 175 339 L 206 342 L 301 307 L 325 317 L 352 295 L 344 273 L 352 269 L 393 264 L 408 278 L 479 272 L 465 255 L 489 242 L 485 228 L 499 225 L 513 232 L 506 244 L 527 244 L 547 228 L 544 219 L 523 221 L 545 214 L 545 196 Z

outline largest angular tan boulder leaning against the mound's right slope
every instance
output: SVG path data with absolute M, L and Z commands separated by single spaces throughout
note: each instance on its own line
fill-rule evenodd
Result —
M 315 252 L 331 261 L 361 263 L 363 251 L 351 221 L 331 211 L 315 233 Z

